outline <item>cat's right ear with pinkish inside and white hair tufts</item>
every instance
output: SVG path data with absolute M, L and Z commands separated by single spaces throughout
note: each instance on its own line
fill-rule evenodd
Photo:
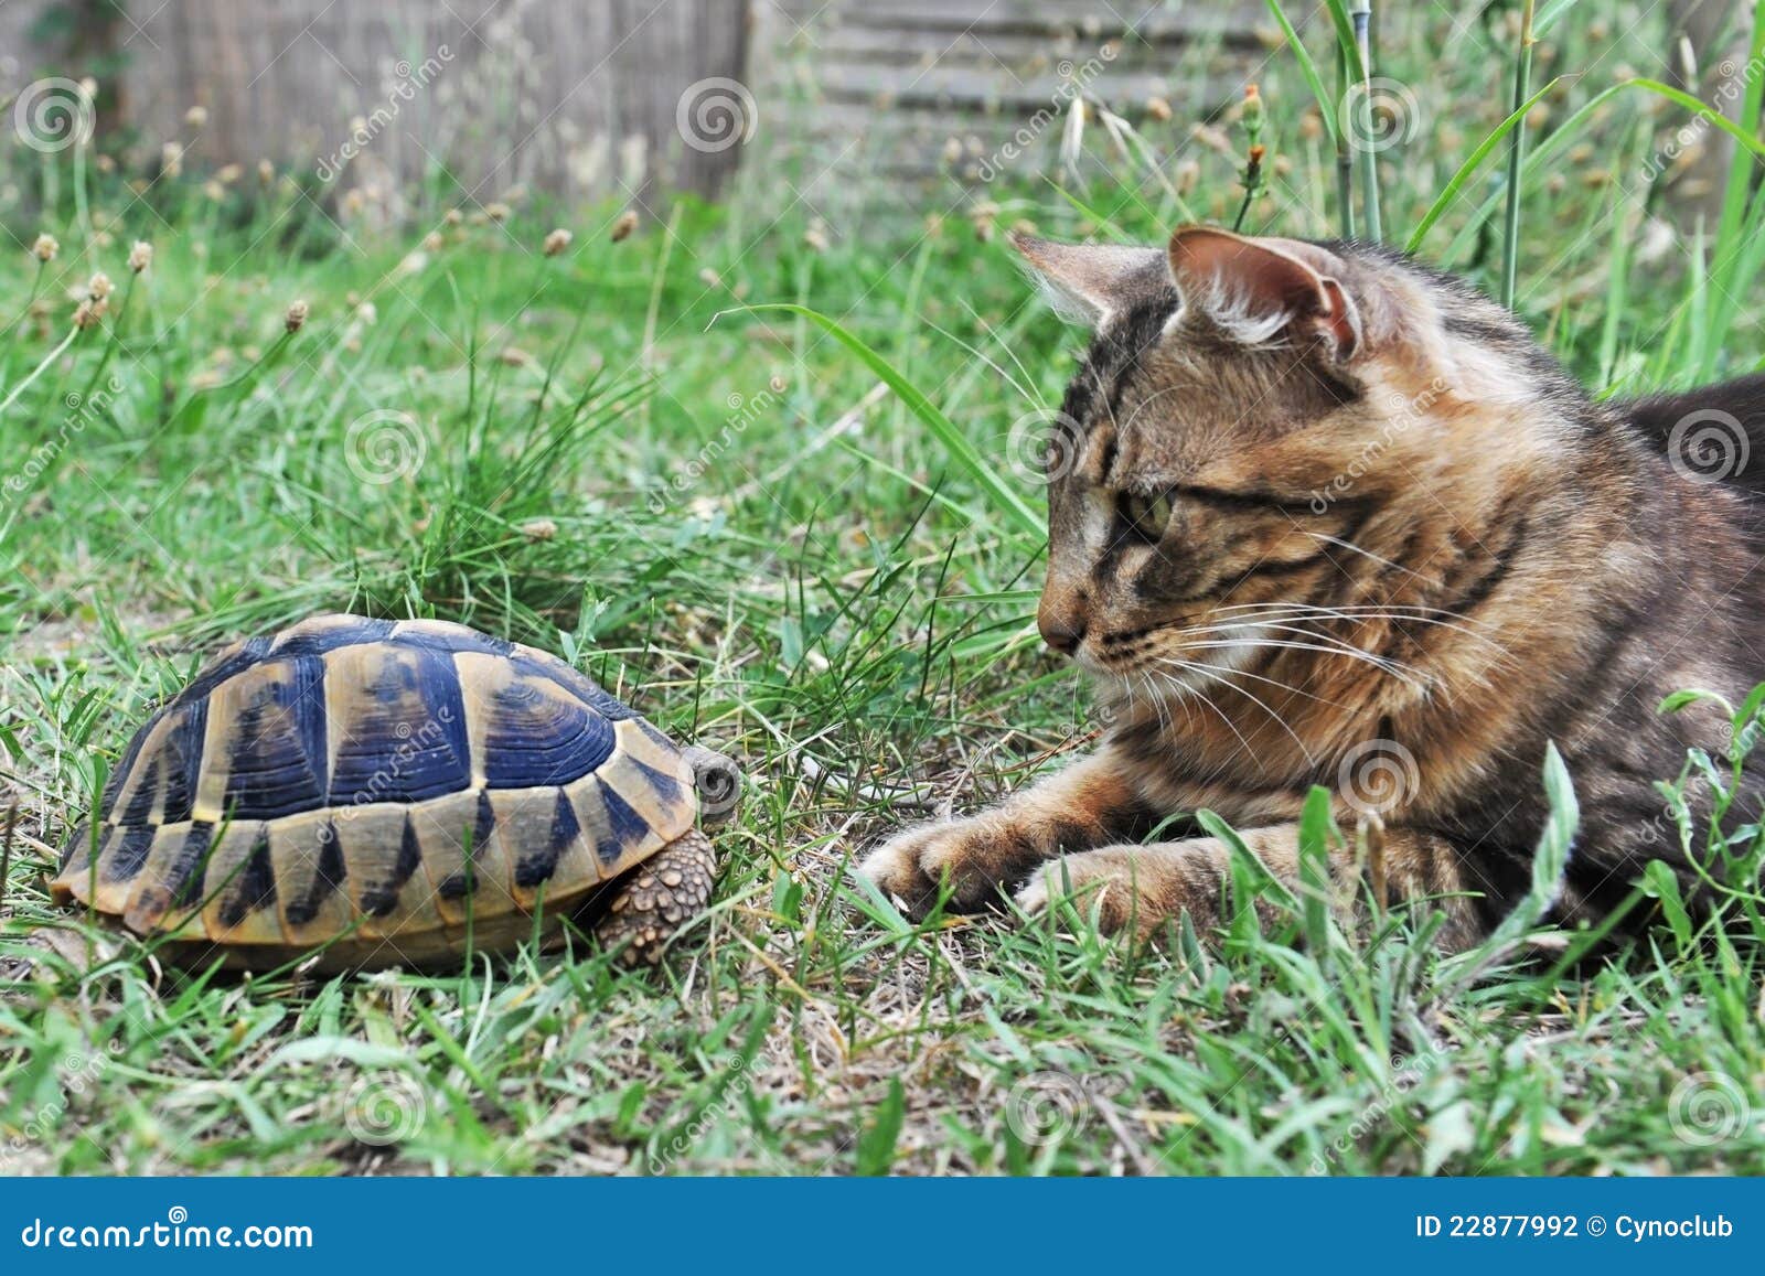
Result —
M 1183 226 L 1170 236 L 1168 258 L 1184 307 L 1198 307 L 1246 344 L 1317 339 L 1340 362 L 1361 348 L 1361 312 L 1333 272 L 1340 259 L 1324 249 Z

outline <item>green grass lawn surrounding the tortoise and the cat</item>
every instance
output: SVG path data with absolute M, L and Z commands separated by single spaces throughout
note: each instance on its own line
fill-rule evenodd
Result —
M 1518 305 L 1601 390 L 1754 367 L 1758 199 L 1675 235 L 1638 171 L 1686 116 L 1608 92 L 1666 76 L 1661 30 L 1640 5 L 1560 9 L 1532 53 L 1555 88 L 1520 159 Z M 1491 289 L 1506 185 L 1461 166 L 1504 150 L 1506 21 L 1380 14 L 1378 74 L 1417 116 L 1382 157 L 1387 238 L 1424 228 L 1424 256 Z M 1331 233 L 1334 131 L 1304 118 L 1322 78 L 1285 51 L 1258 74 L 1269 194 L 1246 228 Z M 994 231 L 1149 240 L 1232 215 L 1230 145 L 1135 127 L 1126 157 L 1089 132 L 1061 189 L 1024 162 L 1015 185 L 925 192 L 932 229 L 863 219 L 826 247 L 770 175 L 612 242 L 618 206 L 466 203 L 450 224 L 436 184 L 420 224 L 374 229 L 293 182 L 132 198 L 127 162 L 79 178 L 72 152 L 11 154 L 0 1170 L 1765 1168 L 1751 897 L 1726 932 L 1663 898 L 1599 964 L 1523 960 L 1532 914 L 1442 960 L 1426 916 L 1345 935 L 1303 902 L 1267 934 L 1244 909 L 1218 942 L 1135 953 L 1077 914 L 909 925 L 844 874 L 1093 734 L 1033 641 L 1041 498 L 1011 445 L 1075 335 Z M 545 258 L 552 224 L 575 242 Z M 39 229 L 64 244 L 41 274 Z M 155 245 L 139 279 L 134 238 Z M 94 270 L 120 282 L 111 312 L 53 353 Z M 655 976 L 577 942 L 439 976 L 240 978 L 51 909 L 51 847 L 146 706 L 222 639 L 319 609 L 538 642 L 741 755 L 694 946 Z M 1560 854 L 1573 792 L 1551 782 Z M 1308 854 L 1333 837 L 1313 821 Z

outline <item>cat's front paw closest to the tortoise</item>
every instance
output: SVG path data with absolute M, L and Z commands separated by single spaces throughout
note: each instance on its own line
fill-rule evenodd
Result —
M 925 914 L 950 881 L 950 907 L 974 912 L 997 902 L 1040 859 L 1011 824 L 994 815 L 920 824 L 890 838 L 858 872 L 884 895 Z

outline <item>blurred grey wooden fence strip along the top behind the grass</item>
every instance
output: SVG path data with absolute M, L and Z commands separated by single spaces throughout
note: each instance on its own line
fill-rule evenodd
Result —
M 1520 7 L 1401 5 L 1375 21 L 1400 46 L 1426 30 L 1493 72 Z M 1322 5 L 1287 9 L 1303 32 L 1322 21 Z M 1611 67 L 1636 41 L 1656 55 L 1649 74 L 1712 90 L 1723 53 L 1744 56 L 1735 0 L 1583 9 Z M 1126 146 L 1124 131 L 1172 115 L 1220 122 L 1250 81 L 1301 90 L 1274 58 L 1285 37 L 1271 12 L 1264 0 L 7 0 L 0 94 L 16 106 L 32 86 L 51 92 L 44 76 L 90 79 L 118 162 L 268 161 L 394 212 L 436 182 L 484 199 L 650 199 L 725 192 L 741 169 L 815 206 L 860 191 L 867 205 L 923 205 L 946 180 L 985 185 L 1075 150 L 1075 101 L 1107 104 L 1123 127 L 1101 122 Z M 1407 104 L 1426 113 L 1451 79 L 1407 85 Z M 26 101 L 53 129 L 53 104 Z

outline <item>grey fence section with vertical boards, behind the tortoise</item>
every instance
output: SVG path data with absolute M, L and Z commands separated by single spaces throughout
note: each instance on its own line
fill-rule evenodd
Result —
M 740 146 L 676 129 L 697 81 L 740 81 L 745 0 L 104 0 L 0 5 L 0 72 L 99 72 L 101 125 L 192 162 L 445 168 L 480 201 L 662 184 L 715 191 Z M 65 21 L 65 16 L 74 21 Z M 64 21 L 56 21 L 64 19 Z M 49 39 L 32 39 L 32 32 Z M 715 92 L 715 90 L 713 90 Z M 191 108 L 198 108 L 192 111 Z M 715 113 L 713 113 L 715 115 Z

